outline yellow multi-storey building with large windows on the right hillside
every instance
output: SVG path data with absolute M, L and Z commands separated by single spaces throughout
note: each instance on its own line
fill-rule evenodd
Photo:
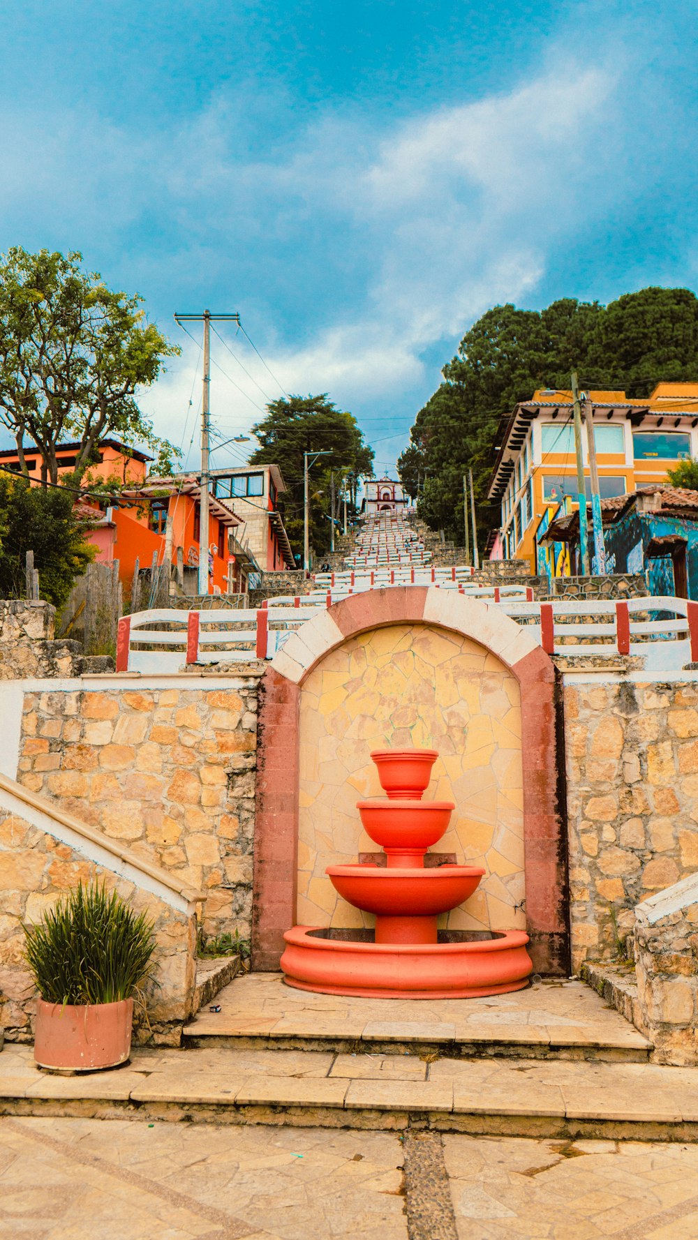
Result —
M 698 383 L 657 383 L 647 399 L 588 392 L 601 498 L 666 481 L 667 469 L 698 458 Z M 589 405 L 586 405 L 589 408 Z M 586 428 L 584 474 L 589 497 Z M 502 506 L 492 558 L 528 559 L 536 572 L 536 528 L 547 510 L 577 503 L 572 392 L 539 388 L 502 423 L 488 498 Z M 589 510 L 589 522 L 591 512 Z

